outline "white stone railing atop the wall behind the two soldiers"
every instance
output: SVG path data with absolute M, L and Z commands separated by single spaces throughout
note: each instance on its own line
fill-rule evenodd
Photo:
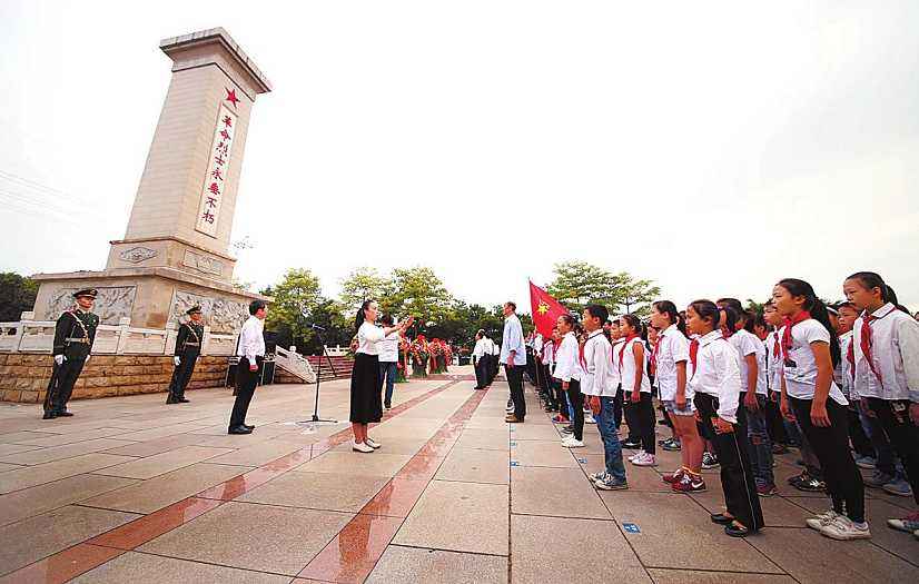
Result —
M 0 323 L 0 353 L 51 353 L 55 344 L 55 321 L 32 320 L 23 313 L 18 323 Z M 118 325 L 99 325 L 96 329 L 93 355 L 171 355 L 176 347 L 176 326 L 165 329 L 132 328 L 130 318 Z M 221 356 L 236 352 L 237 335 L 211 333 L 205 327 L 201 355 Z

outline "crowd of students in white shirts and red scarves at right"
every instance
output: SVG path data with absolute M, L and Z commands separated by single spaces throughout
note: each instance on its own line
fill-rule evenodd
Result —
M 807 525 L 868 538 L 866 485 L 919 505 L 919 321 L 874 273 L 853 274 L 842 291 L 846 301 L 827 306 L 787 278 L 762 313 L 735 298 L 685 310 L 660 300 L 648 321 L 592 304 L 580 320 L 562 315 L 551 338 L 532 338 L 528 375 L 564 426 L 563 447 L 583 447 L 584 425 L 597 425 L 605 468 L 589 478 L 599 489 L 628 488 L 623 448 L 636 451 L 635 466 L 656 466 L 658 446 L 680 451 L 662 479 L 700 493 L 702 469 L 720 467 L 725 511 L 711 521 L 743 537 L 763 527 L 760 497 L 777 492 L 773 455 L 799 448 L 803 469 L 789 484 L 832 504 Z M 672 428 L 660 442 L 654 396 Z M 863 479 L 859 467 L 873 474 Z M 919 540 L 919 511 L 888 525 Z

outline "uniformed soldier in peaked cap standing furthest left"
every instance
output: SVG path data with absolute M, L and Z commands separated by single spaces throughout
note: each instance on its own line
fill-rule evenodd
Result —
M 73 385 L 83 369 L 83 365 L 89 360 L 92 350 L 92 343 L 96 340 L 96 328 L 99 326 L 99 317 L 92 314 L 92 305 L 96 303 L 97 290 L 86 288 L 73 293 L 77 306 L 65 311 L 58 318 L 55 326 L 55 369 L 51 380 L 48 382 L 48 390 L 45 394 L 45 417 L 53 419 L 56 417 L 72 416 L 67 410 L 67 402 L 73 393 Z

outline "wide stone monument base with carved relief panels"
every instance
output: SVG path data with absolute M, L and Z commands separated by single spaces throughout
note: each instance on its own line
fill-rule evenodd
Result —
M 73 305 L 73 291 L 91 287 L 99 290 L 93 311 L 101 324 L 118 325 L 127 317 L 132 327 L 164 329 L 167 324 L 182 319 L 188 308 L 200 305 L 213 333 L 231 335 L 248 318 L 251 300 L 270 300 L 224 281 L 170 267 L 37 274 L 32 278 L 39 283 L 37 320 L 56 320 Z

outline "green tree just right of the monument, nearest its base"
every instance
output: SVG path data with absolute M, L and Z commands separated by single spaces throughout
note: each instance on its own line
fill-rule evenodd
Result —
M 278 333 L 289 331 L 291 338 L 309 340 L 314 311 L 323 303 L 319 278 L 308 269 L 289 269 L 276 286 L 263 294 L 273 296 L 265 327 Z

